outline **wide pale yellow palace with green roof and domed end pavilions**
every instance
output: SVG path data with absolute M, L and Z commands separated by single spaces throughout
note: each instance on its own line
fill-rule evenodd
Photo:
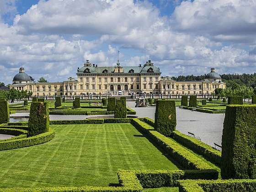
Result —
M 32 91 L 33 96 L 124 95 L 211 95 L 216 88 L 225 89 L 219 74 L 212 68 L 201 81 L 175 81 L 161 77 L 160 68 L 151 60 L 139 66 L 98 66 L 89 60 L 77 68 L 77 79 L 69 77 L 63 82 L 39 83 L 25 73 L 23 67 L 13 78 L 10 88 Z

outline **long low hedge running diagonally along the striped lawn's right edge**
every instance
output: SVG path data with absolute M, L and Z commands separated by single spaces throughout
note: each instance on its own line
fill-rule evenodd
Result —
M 213 170 L 211 165 L 198 158 L 181 144 L 178 144 L 174 139 L 165 137 L 161 133 L 158 133 L 149 124 L 135 118 L 132 120 L 132 125 L 140 132 L 144 133 L 148 139 L 152 140 L 155 144 L 162 148 L 166 154 L 170 155 L 174 160 L 182 165 L 184 169 Z M 215 172 L 218 175 L 218 171 Z

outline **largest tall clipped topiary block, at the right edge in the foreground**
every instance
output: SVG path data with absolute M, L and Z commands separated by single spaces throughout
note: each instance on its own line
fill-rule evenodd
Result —
M 256 158 L 255 114 L 256 105 L 227 106 L 222 134 L 223 179 L 250 178 L 249 165 Z

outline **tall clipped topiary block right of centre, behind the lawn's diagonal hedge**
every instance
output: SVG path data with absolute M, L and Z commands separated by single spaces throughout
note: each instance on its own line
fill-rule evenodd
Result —
M 155 130 L 170 136 L 176 129 L 175 101 L 158 100 L 155 109 Z

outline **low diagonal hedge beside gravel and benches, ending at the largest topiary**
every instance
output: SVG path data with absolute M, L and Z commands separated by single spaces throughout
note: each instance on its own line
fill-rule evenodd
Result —
M 203 155 L 208 161 L 221 165 L 221 151 L 214 149 L 202 141 L 187 136 L 179 131 L 173 132 L 173 139 L 185 147 L 192 149 L 194 152 Z

